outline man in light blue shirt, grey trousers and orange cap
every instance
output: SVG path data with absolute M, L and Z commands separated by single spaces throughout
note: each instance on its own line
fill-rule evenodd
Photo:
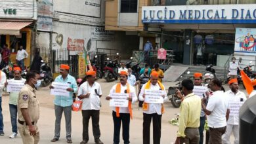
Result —
M 77 92 L 77 83 L 75 78 L 68 74 L 70 67 L 68 65 L 60 65 L 60 75 L 56 77 L 54 82 L 62 82 L 70 84 L 70 88 L 67 91 L 70 92 L 70 96 L 55 96 L 54 99 L 54 109 L 55 109 L 55 130 L 54 138 L 51 142 L 58 141 L 60 138 L 60 122 L 62 118 L 62 113 L 64 112 L 66 120 L 66 139 L 67 143 L 72 143 L 71 138 L 71 114 L 72 114 L 72 104 L 73 104 L 73 94 Z M 50 86 L 50 88 L 54 88 Z

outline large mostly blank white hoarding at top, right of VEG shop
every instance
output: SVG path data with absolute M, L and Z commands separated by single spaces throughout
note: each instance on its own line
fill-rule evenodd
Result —
M 67 14 L 77 14 L 79 16 L 89 16 L 100 18 L 101 1 L 100 0 L 55 0 L 54 11 Z

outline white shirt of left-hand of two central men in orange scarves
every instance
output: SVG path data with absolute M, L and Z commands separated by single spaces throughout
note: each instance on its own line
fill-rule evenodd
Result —
M 117 85 L 117 84 L 115 84 L 114 86 L 112 86 L 112 88 L 111 88 L 111 90 L 110 90 L 110 95 L 109 95 L 109 96 L 111 96 L 111 94 L 116 93 L 116 85 Z M 131 86 L 131 85 L 130 85 L 129 88 L 130 88 L 131 98 L 133 98 L 132 103 L 134 103 L 135 101 L 138 100 L 137 95 L 136 95 L 136 93 L 135 93 L 135 88 L 134 88 L 133 86 Z M 127 85 L 123 86 L 123 85 L 121 84 L 121 94 L 125 94 L 125 90 L 127 90 Z M 112 109 L 113 109 L 113 111 L 116 111 L 116 107 L 112 107 Z M 119 108 L 119 113 L 129 113 L 128 107 L 120 107 L 120 108 Z

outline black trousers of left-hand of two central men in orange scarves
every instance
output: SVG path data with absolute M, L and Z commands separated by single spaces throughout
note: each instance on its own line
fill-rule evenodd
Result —
M 114 144 L 118 144 L 120 142 L 120 128 L 121 122 L 123 122 L 123 142 L 125 144 L 130 143 L 129 141 L 129 132 L 130 132 L 130 114 L 129 113 L 119 113 L 119 118 L 116 117 L 116 112 L 113 111 L 112 113 L 113 120 L 114 120 Z

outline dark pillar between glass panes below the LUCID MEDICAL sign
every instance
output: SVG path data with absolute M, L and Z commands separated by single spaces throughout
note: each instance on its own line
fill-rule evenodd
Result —
M 184 49 L 183 49 L 183 64 L 190 64 L 190 45 L 191 45 L 191 29 L 185 29 L 184 31 Z

